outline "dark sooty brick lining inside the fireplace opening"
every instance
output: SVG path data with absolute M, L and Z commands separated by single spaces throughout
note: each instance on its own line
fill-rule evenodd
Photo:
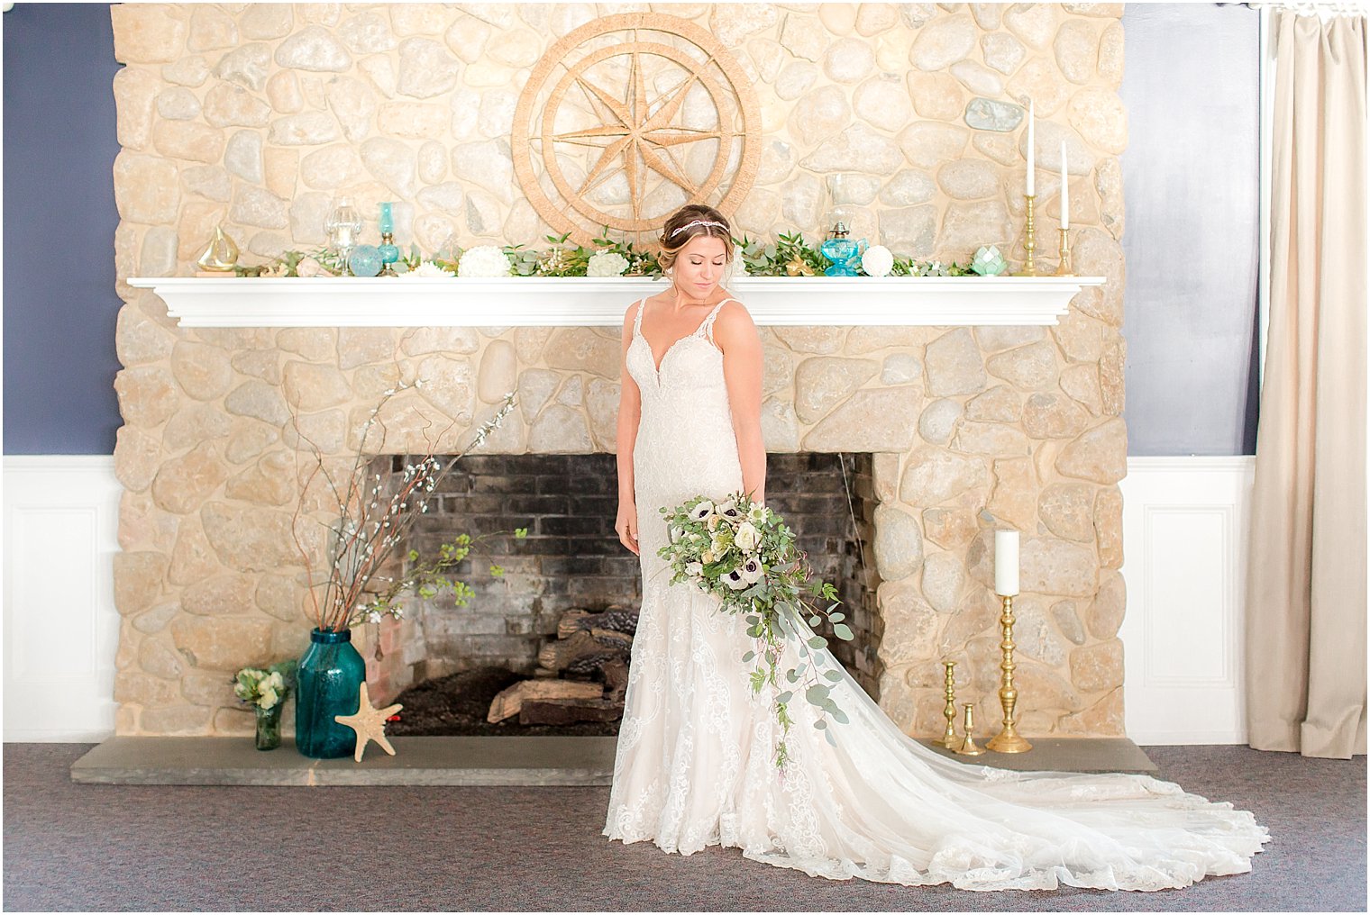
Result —
M 378 458 L 378 470 L 395 473 L 406 460 Z M 473 551 L 453 573 L 474 597 L 464 607 L 453 607 L 445 590 L 412 599 L 403 625 L 384 625 L 388 631 L 374 640 L 369 657 L 377 692 L 395 697 L 440 678 L 475 682 L 451 675 L 481 668 L 532 677 L 538 652 L 556 640 L 569 611 L 636 612 L 643 596 L 638 560 L 614 533 L 616 485 L 611 453 L 462 458 L 401 552 L 436 555 L 462 533 L 489 537 L 485 549 Z M 878 699 L 882 627 L 871 555 L 871 455 L 767 455 L 766 503 L 796 530 L 815 574 L 838 589 L 856 638 L 830 644 Z M 496 537 L 516 527 L 526 527 L 527 537 Z M 501 577 L 490 574 L 492 563 L 503 568 Z

